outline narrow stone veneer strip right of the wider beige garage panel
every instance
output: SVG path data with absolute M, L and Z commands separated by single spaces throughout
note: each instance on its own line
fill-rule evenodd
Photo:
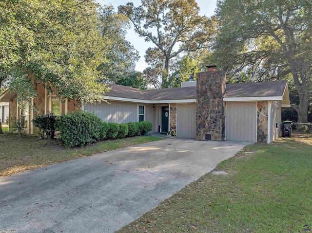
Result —
M 268 142 L 268 101 L 257 102 L 257 142 Z

